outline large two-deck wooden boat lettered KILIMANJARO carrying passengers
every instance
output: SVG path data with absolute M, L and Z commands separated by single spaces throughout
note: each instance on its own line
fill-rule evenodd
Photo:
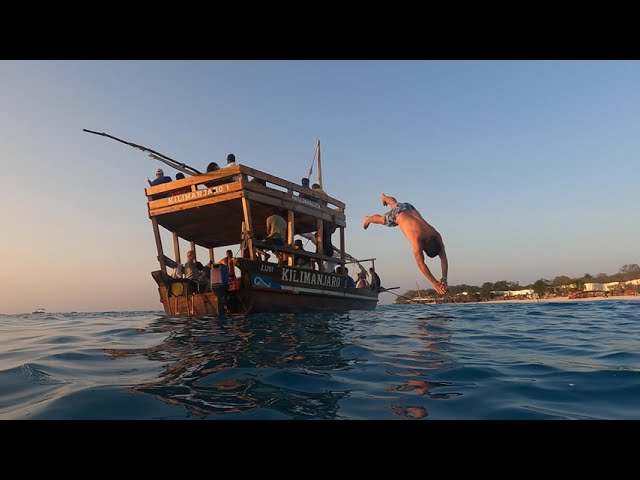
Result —
M 349 263 L 345 204 L 333 197 L 245 165 L 148 187 L 145 193 L 160 264 L 151 274 L 169 315 L 370 310 L 378 303 L 378 292 L 350 287 L 347 275 L 294 266 L 294 254 L 342 266 Z M 266 237 L 266 219 L 273 207 L 287 221 L 286 245 L 275 247 L 284 257 L 280 264 L 262 261 L 255 251 L 274 247 L 259 240 Z M 339 232 L 337 258 L 321 253 L 326 226 Z M 160 227 L 173 235 L 174 259 L 165 255 Z M 311 232 L 316 250 L 295 250 L 294 235 Z M 196 246 L 208 249 L 211 291 L 199 291 L 197 282 L 167 272 L 180 264 L 180 239 L 190 242 L 194 252 Z M 240 245 L 235 260 L 240 277 L 228 280 L 225 267 L 215 264 L 214 248 L 233 245 Z M 375 269 L 375 259 L 369 260 Z

